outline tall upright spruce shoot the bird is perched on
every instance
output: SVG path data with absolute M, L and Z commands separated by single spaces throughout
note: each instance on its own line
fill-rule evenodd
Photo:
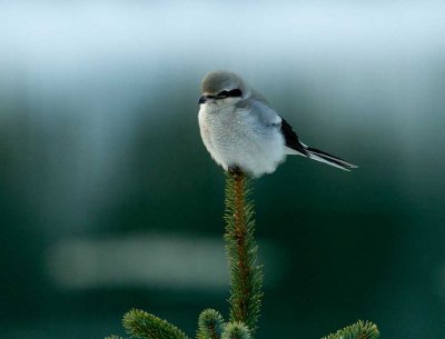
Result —
M 230 267 L 230 321 L 257 329 L 261 305 L 263 270 L 257 265 L 254 205 L 248 179 L 239 170 L 226 175 L 226 251 Z

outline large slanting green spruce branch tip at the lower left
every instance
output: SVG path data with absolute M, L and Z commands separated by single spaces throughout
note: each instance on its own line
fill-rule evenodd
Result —
M 142 310 L 132 309 L 123 316 L 127 332 L 144 339 L 188 339 L 188 337 L 170 322 Z

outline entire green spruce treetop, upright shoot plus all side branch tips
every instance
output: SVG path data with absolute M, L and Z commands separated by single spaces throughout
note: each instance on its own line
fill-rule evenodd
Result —
M 249 179 L 237 169 L 226 175 L 226 251 L 230 267 L 230 322 L 219 312 L 204 310 L 198 319 L 198 339 L 251 339 L 257 329 L 261 305 L 263 269 L 257 265 L 254 239 L 254 203 L 249 200 Z M 142 310 L 123 316 L 123 327 L 131 337 L 142 339 L 188 339 L 170 322 Z M 377 339 L 377 326 L 362 321 L 323 339 Z M 110 336 L 106 339 L 123 339 Z

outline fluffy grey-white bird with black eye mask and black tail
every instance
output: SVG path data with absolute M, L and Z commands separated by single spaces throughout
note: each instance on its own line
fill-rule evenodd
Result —
M 267 99 L 235 72 L 207 73 L 198 103 L 202 142 L 225 171 L 258 178 L 273 173 L 287 156 L 294 154 L 346 171 L 357 168 L 303 143 Z

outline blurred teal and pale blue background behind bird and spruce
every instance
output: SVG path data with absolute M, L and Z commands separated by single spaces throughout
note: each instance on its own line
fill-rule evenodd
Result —
M 204 74 L 241 73 L 301 140 L 255 181 L 258 338 L 357 319 L 445 331 L 443 1 L 1 1 L 0 338 L 123 335 L 144 308 L 194 337 L 227 316 L 224 176 Z

